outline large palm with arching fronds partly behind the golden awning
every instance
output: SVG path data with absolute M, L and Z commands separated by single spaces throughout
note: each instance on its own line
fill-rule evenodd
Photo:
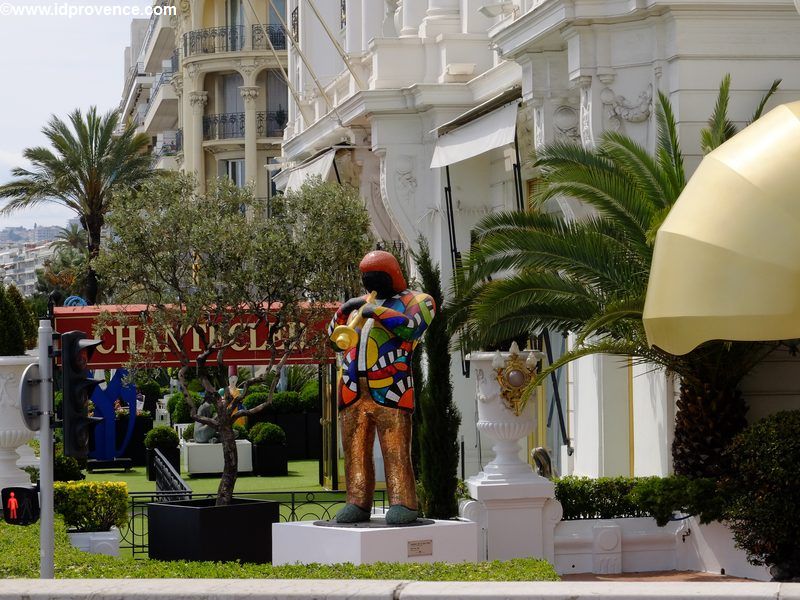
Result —
M 728 85 L 726 77 L 720 96 L 727 95 Z M 726 106 L 727 98 L 717 103 L 709 125 L 709 139 L 717 145 L 735 133 L 726 125 Z M 676 373 L 681 397 L 675 471 L 717 476 L 726 469 L 722 450 L 746 424 L 738 383 L 772 347 L 710 342 L 675 356 L 647 343 L 642 313 L 655 231 L 686 185 L 675 118 L 661 93 L 657 108 L 655 157 L 614 132 L 606 132 L 595 149 L 555 143 L 540 152 L 542 184 L 534 206 L 570 196 L 594 208 L 595 215 L 565 222 L 530 210 L 484 218 L 457 275 L 456 323 L 469 348 L 543 328 L 575 332 L 575 347 L 544 369 L 535 384 L 570 361 L 598 353 L 631 356 Z M 496 278 L 502 272 L 511 274 Z

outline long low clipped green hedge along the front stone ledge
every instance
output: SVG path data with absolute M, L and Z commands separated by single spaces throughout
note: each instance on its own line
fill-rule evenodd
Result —
M 55 575 L 58 579 L 406 579 L 414 581 L 558 581 L 539 559 L 486 563 L 375 563 L 371 565 L 253 565 L 161 562 L 88 554 L 73 548 L 56 516 Z M 0 522 L 0 579 L 39 577 L 39 524 Z

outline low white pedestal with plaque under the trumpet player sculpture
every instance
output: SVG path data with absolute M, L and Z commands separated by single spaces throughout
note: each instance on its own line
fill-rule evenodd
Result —
M 272 525 L 273 565 L 477 560 L 477 525 L 469 521 L 370 529 L 308 521 Z

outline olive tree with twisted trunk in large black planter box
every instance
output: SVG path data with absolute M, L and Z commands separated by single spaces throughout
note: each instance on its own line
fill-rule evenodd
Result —
M 271 211 L 266 199 L 227 181 L 207 182 L 204 194 L 196 187 L 190 176 L 170 174 L 115 197 L 108 219 L 114 236 L 97 261 L 114 300 L 141 306 L 133 320 L 147 343 L 137 344 L 129 366 L 157 364 L 164 349 L 179 357 L 178 385 L 195 431 L 200 424 L 213 427 L 224 459 L 216 499 L 150 506 L 150 556 L 266 561 L 278 507 L 234 498 L 234 423 L 266 408 L 278 378 L 239 381 L 237 396 L 245 397 L 252 385 L 271 380 L 264 402 L 240 408 L 220 379 L 227 375 L 226 356 L 250 347 L 253 338 L 267 372 L 286 365 L 299 348 L 319 348 L 321 356 L 322 324 L 331 314 L 326 303 L 358 286 L 352 265 L 370 246 L 369 217 L 355 190 L 319 180 L 273 199 Z M 108 314 L 98 327 L 124 320 Z M 201 382 L 214 414 L 198 414 L 190 375 Z M 192 514 L 179 517 L 178 509 Z M 207 516 L 209 510 L 220 514 Z M 231 535 L 232 522 L 247 525 Z

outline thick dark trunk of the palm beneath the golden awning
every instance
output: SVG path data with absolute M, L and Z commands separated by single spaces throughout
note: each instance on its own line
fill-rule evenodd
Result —
M 719 478 L 729 469 L 724 451 L 747 426 L 747 403 L 735 386 L 681 381 L 672 459 L 676 475 Z

